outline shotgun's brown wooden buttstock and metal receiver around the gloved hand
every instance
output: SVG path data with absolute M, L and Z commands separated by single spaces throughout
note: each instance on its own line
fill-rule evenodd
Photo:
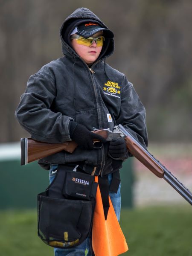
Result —
M 120 134 L 113 134 L 108 129 L 100 129 L 93 132 L 104 137 L 106 140 L 112 140 L 114 137 L 120 137 Z M 95 140 L 94 143 L 95 142 L 97 142 L 97 140 Z M 21 138 L 20 146 L 20 164 L 25 165 L 63 150 L 73 153 L 78 145 L 74 141 L 67 141 L 64 143 L 45 143 L 33 140 L 32 138 Z

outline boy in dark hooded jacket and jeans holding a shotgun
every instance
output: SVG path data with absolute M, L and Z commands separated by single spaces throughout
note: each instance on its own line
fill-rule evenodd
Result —
M 113 32 L 86 8 L 64 21 L 61 30 L 64 56 L 50 62 L 29 78 L 16 110 L 20 125 L 35 140 L 79 146 L 69 154 L 59 152 L 39 160 L 49 169 L 52 182 L 59 164 L 79 166 L 82 172 L 105 180 L 117 219 L 120 217 L 119 169 L 128 158 L 122 138 L 106 142 L 94 128 L 121 124 L 147 146 L 145 108 L 125 75 L 105 63 L 114 51 Z M 93 139 L 103 143 L 94 148 Z M 110 186 L 111 185 L 111 186 Z M 55 248 L 55 256 L 94 255 L 90 238 L 70 249 Z

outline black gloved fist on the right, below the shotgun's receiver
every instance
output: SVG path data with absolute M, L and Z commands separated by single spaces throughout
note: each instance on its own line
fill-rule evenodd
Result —
M 113 158 L 124 157 L 127 152 L 127 147 L 125 140 L 123 138 L 118 138 L 116 140 L 111 140 L 109 144 L 109 154 Z

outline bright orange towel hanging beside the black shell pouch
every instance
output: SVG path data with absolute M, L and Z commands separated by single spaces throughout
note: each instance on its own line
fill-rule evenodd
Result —
M 98 177 L 95 177 L 98 182 Z M 105 220 L 102 198 L 99 186 L 96 193 L 96 207 L 93 215 L 92 245 L 95 256 L 117 256 L 128 250 L 125 236 L 116 218 L 111 199 L 109 211 Z

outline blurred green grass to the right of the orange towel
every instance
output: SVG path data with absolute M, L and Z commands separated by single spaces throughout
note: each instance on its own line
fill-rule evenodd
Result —
M 122 209 L 120 225 L 129 250 L 124 256 L 191 256 L 191 206 Z

